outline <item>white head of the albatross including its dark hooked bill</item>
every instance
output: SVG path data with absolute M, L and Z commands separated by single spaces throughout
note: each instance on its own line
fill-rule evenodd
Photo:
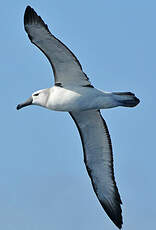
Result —
M 17 110 L 28 105 L 40 105 L 46 107 L 49 98 L 49 89 L 42 89 L 34 92 L 24 103 L 17 105 Z

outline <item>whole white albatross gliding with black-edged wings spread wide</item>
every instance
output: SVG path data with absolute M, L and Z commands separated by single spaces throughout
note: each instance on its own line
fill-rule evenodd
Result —
M 121 229 L 122 201 L 114 177 L 111 138 L 100 109 L 134 107 L 139 99 L 131 92 L 104 92 L 94 88 L 76 56 L 49 31 L 30 6 L 25 10 L 24 28 L 30 41 L 48 58 L 55 85 L 34 92 L 17 105 L 17 110 L 39 105 L 69 112 L 81 137 L 84 163 L 94 192 L 107 215 Z

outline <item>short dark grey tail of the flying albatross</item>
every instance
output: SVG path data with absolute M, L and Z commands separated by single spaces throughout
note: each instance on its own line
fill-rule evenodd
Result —
M 114 92 L 114 98 L 121 106 L 134 107 L 139 104 L 140 100 L 131 92 Z

